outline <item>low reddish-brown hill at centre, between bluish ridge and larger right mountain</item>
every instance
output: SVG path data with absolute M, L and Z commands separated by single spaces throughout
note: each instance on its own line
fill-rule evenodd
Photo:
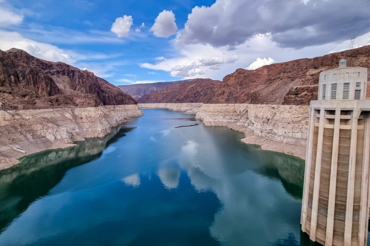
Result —
M 203 103 L 221 84 L 219 80 L 195 79 L 172 84 L 138 99 L 138 103 Z

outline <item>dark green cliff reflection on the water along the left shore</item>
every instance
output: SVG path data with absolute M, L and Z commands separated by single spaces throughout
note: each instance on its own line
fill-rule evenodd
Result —
M 29 155 L 0 171 L 0 232 L 35 200 L 45 196 L 71 168 L 91 162 L 132 128 L 112 128 L 104 138 L 90 138 L 78 145 Z

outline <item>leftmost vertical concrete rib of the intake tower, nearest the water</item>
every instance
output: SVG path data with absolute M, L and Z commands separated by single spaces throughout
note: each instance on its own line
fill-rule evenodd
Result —
M 311 159 L 312 159 L 312 143 L 313 143 L 313 128 L 315 127 L 315 110 L 310 110 L 310 121 L 308 126 L 307 135 L 307 150 L 306 150 L 306 169 L 305 169 L 305 181 L 303 186 L 303 199 L 302 199 L 302 215 L 301 225 L 302 231 L 306 232 L 306 221 L 307 221 L 307 207 L 308 207 L 308 193 L 310 189 L 310 172 L 311 172 Z

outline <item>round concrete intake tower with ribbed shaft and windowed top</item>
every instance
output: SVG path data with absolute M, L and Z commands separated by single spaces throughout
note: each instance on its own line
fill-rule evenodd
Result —
M 302 231 L 322 245 L 365 246 L 369 218 L 370 100 L 367 68 L 320 73 L 311 101 Z

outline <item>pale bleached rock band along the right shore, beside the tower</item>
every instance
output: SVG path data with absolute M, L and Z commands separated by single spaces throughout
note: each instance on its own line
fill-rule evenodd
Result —
M 266 104 L 153 103 L 141 108 L 168 108 L 195 114 L 205 125 L 245 133 L 245 143 L 305 159 L 309 106 Z

